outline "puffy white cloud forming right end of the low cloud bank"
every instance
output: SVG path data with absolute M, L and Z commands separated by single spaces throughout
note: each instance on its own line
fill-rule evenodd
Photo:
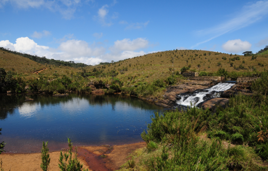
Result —
M 116 40 L 114 45 L 110 47 L 110 51 L 113 53 L 118 53 L 120 51 L 136 51 L 138 49 L 144 49 L 149 46 L 148 40 L 144 38 L 137 38 L 134 40 L 130 39 L 123 39 L 123 40 Z

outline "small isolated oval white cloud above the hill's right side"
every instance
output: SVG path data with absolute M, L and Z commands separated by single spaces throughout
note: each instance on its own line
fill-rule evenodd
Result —
M 222 48 L 226 52 L 238 53 L 242 51 L 250 51 L 251 44 L 247 41 L 242 41 L 240 39 L 228 40 L 222 45 Z

